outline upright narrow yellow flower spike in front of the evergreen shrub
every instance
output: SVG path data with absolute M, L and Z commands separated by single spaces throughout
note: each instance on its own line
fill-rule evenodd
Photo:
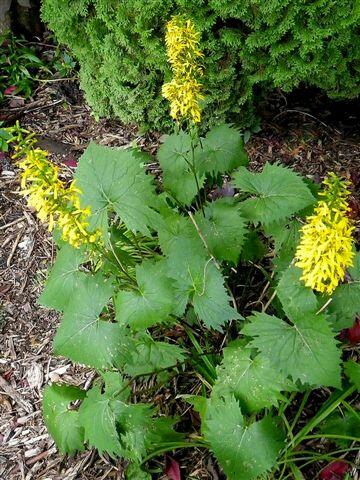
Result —
M 176 15 L 167 23 L 166 49 L 174 77 L 162 88 L 163 96 L 170 102 L 170 115 L 175 120 L 187 119 L 194 123 L 201 120 L 199 101 L 202 84 L 197 77 L 202 75 L 199 59 L 200 33 L 191 20 Z

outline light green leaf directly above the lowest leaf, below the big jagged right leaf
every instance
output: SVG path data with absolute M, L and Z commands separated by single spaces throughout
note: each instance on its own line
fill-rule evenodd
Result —
M 217 375 L 212 395 L 235 395 L 247 413 L 277 405 L 284 400 L 281 392 L 291 389 L 286 376 L 275 370 L 266 357 L 252 355 L 251 349 L 243 345 L 224 349 Z

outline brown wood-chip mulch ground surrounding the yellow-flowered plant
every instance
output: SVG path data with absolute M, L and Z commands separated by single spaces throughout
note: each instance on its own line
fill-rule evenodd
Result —
M 25 104 L 16 97 L 10 103 L 3 108 L 2 118 L 10 123 L 19 119 L 23 127 L 35 131 L 40 146 L 69 177 L 90 141 L 122 146 L 135 140 L 150 152 L 158 145 L 159 135 L 140 135 L 135 127 L 118 121 L 96 121 L 75 82 L 43 84 Z M 261 131 L 246 145 L 251 168 L 261 169 L 266 161 L 280 162 L 318 182 L 328 171 L 341 173 L 353 182 L 353 216 L 358 228 L 358 106 L 331 103 L 318 92 L 302 91 L 287 98 L 274 95 L 264 111 Z M 44 385 L 61 380 L 88 388 L 94 375 L 52 354 L 59 316 L 36 300 L 54 260 L 54 244 L 17 193 L 17 169 L 7 155 L 0 158 L 0 188 L 0 478 L 123 479 L 122 462 L 95 451 L 63 457 L 46 431 L 41 412 Z M 196 389 L 196 384 L 192 387 Z M 162 389 L 158 397 L 166 403 L 169 392 Z M 179 413 L 185 408 L 180 406 Z M 222 479 L 212 457 L 200 450 L 182 451 L 174 458 L 183 478 Z M 159 472 L 164 465 L 162 458 L 154 463 Z M 309 475 L 310 480 L 316 474 Z M 160 473 L 159 478 L 167 477 Z

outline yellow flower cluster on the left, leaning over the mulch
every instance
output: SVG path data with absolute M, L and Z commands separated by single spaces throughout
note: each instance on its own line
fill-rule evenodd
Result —
M 42 222 L 48 222 L 49 231 L 57 225 L 62 230 L 62 239 L 73 247 L 100 240 L 99 231 L 88 231 L 90 208 L 81 208 L 80 194 L 75 180 L 69 187 L 59 179 L 59 170 L 49 162 L 48 153 L 34 148 L 32 134 L 28 143 L 15 147 L 15 158 L 21 172 L 21 194 L 28 197 Z

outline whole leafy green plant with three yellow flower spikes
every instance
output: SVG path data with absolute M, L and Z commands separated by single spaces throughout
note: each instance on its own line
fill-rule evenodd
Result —
M 45 423 L 63 453 L 122 457 L 129 480 L 158 478 L 154 457 L 190 447 L 209 449 L 229 480 L 304 478 L 310 438 L 354 449 L 340 407 L 360 367 L 336 338 L 360 313 L 350 185 L 330 174 L 318 193 L 277 163 L 250 171 L 233 125 L 200 137 L 198 42 L 192 20 L 170 20 L 163 94 L 177 125 L 157 152 L 160 180 L 149 153 L 92 143 L 68 186 L 32 141 L 12 139 L 23 194 L 59 233 L 39 299 L 62 314 L 54 353 L 98 373 L 87 390 L 48 385 Z M 151 405 L 174 378 L 201 427 Z M 320 387 L 327 402 L 304 425 Z

